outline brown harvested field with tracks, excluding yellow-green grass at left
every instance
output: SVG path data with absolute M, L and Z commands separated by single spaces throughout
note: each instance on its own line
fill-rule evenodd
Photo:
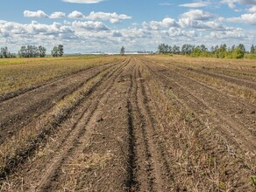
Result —
M 88 60 L 3 94 L 1 191 L 256 190 L 255 62 Z

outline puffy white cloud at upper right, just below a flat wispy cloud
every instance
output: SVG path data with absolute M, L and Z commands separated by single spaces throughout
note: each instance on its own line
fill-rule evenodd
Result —
M 209 12 L 203 11 L 203 10 L 189 10 L 188 12 L 185 12 L 181 14 L 182 18 L 189 18 L 191 20 L 209 20 L 210 18 L 213 18 L 214 16 L 210 14 Z

